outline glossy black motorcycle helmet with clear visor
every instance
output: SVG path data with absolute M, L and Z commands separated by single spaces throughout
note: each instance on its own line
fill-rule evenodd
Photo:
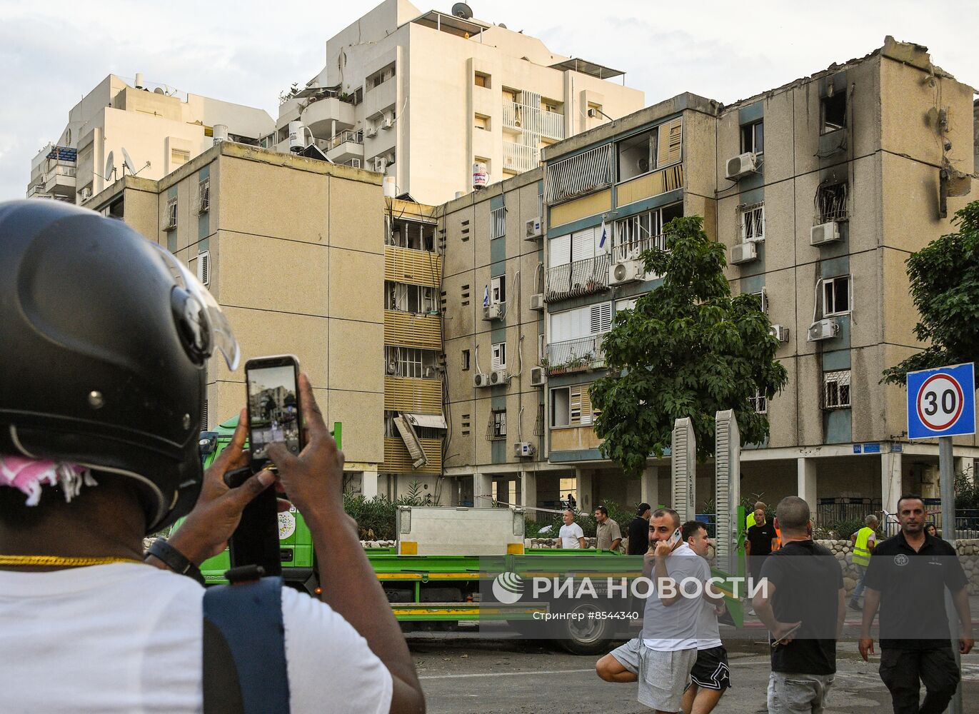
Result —
M 176 258 L 56 201 L 0 203 L 0 453 L 132 479 L 147 533 L 201 490 L 205 363 L 238 345 Z

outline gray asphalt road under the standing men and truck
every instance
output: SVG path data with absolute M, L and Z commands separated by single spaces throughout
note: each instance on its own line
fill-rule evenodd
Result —
M 648 712 L 635 685 L 595 676 L 595 656 L 569 654 L 550 643 L 486 640 L 470 633 L 408 636 L 429 714 L 595 714 Z M 730 690 L 715 711 L 766 712 L 768 644 L 725 643 Z M 878 650 L 879 652 L 879 650 Z M 856 642 L 840 645 L 836 685 L 825 714 L 890 712 L 890 695 L 877 675 L 879 660 L 863 662 Z M 962 714 L 979 712 L 979 654 L 963 659 Z

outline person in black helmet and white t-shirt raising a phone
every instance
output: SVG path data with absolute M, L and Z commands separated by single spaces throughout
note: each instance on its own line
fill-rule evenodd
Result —
M 0 204 L 5 711 L 201 711 L 204 590 L 170 568 L 194 573 L 276 481 L 313 534 L 324 602 L 282 590 L 287 683 L 269 688 L 284 689 L 293 711 L 424 711 L 407 646 L 343 512 L 343 453 L 305 376 L 302 453 L 270 448 L 278 476 L 262 471 L 229 490 L 224 473 L 248 462 L 242 419 L 202 475 L 204 366 L 215 350 L 237 366 L 220 309 L 168 253 L 89 211 Z M 144 561 L 143 536 L 188 512 L 169 547 Z M 260 645 L 250 654 L 271 671 Z M 237 710 L 255 710 L 242 698 Z

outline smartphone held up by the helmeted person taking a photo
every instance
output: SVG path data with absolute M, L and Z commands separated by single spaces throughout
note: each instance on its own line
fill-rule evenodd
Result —
M 284 444 L 292 453 L 303 449 L 299 373 L 300 362 L 294 355 L 256 357 L 245 362 L 254 473 L 268 462 L 269 444 Z

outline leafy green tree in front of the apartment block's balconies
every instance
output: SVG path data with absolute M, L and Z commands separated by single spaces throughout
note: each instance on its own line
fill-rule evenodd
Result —
M 700 460 L 714 452 L 719 410 L 734 409 L 743 444 L 764 442 L 769 421 L 750 400 L 756 393 L 770 400 L 788 381 L 768 316 L 757 296 L 731 298 L 724 247 L 707 237 L 703 218 L 675 218 L 665 232 L 667 250 L 643 255 L 663 284 L 616 313 L 602 342 L 609 371 L 590 392 L 601 410 L 601 452 L 629 474 L 670 448 L 674 422 L 684 416 Z

